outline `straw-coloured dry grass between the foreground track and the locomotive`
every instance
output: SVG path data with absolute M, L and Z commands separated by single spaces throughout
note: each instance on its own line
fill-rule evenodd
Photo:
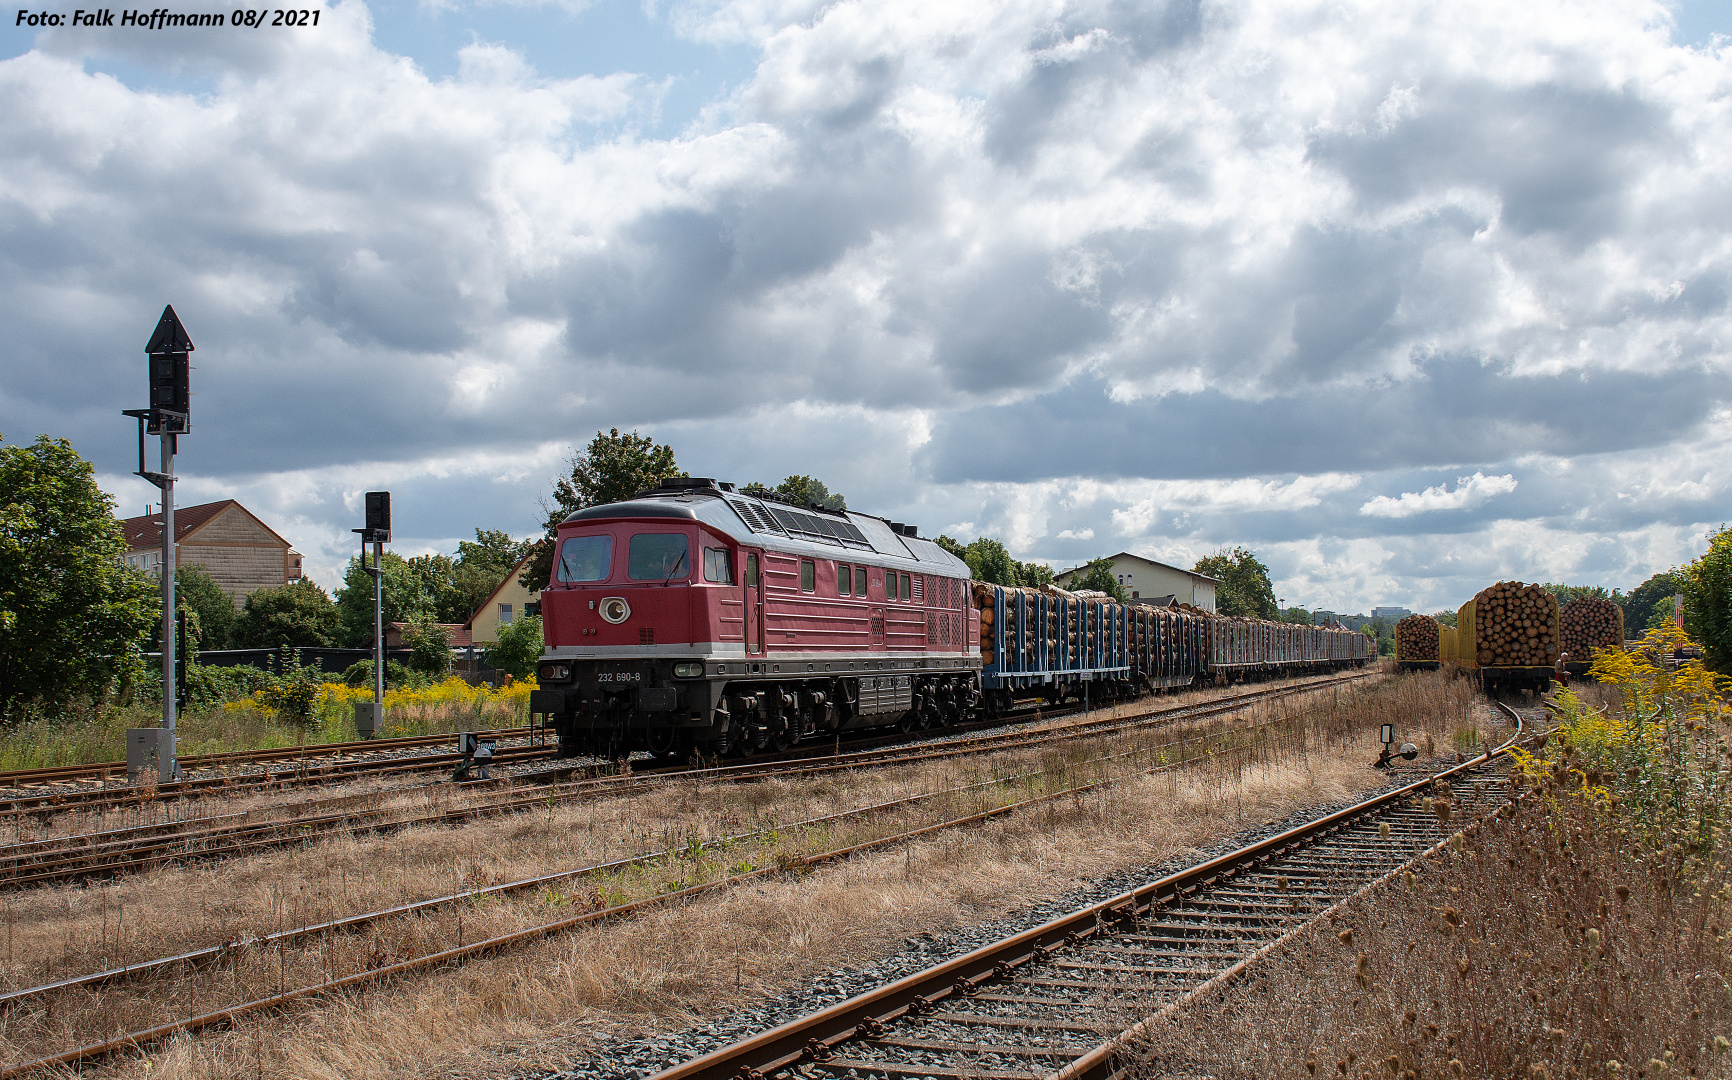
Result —
M 710 895 L 284 1018 L 246 1021 L 234 1032 L 178 1038 L 151 1052 L 149 1075 L 364 1078 L 447 1075 L 452 1068 L 487 1075 L 518 1068 L 527 1058 L 580 1058 L 598 1038 L 726 1012 L 814 971 L 878 955 L 909 933 L 1001 916 L 1086 878 L 1145 865 L 1245 824 L 1375 786 L 1380 777 L 1365 768 L 1375 753 L 1367 730 L 1375 732 L 1384 717 L 1396 715 L 1403 737 L 1422 744 L 1448 744 L 1453 730 L 1470 720 L 1467 696 L 1441 677 L 1327 698 L 1328 708 L 1315 711 L 1302 737 L 1271 737 L 1261 749 L 1186 772 L 1126 775 L 1114 788 L 984 827 Z M 1292 708 L 1299 704 L 1292 701 Z M 1420 711 L 1427 713 L 1424 727 L 1415 723 Z M 107 888 L 28 893 L 9 905 L 5 981 L 14 988 L 33 985 L 171 948 L 994 775 L 1034 774 L 1024 782 L 1034 791 L 1150 763 L 1148 746 L 1141 758 L 1117 765 L 1091 762 L 1126 749 L 1138 748 L 1119 739 L 1072 744 L 1063 753 L 1022 751 L 818 781 L 684 784 L 379 841 L 322 839 L 305 850 L 159 871 Z M 611 900 L 650 895 L 677 881 L 724 874 L 734 860 L 771 865 L 831 843 L 940 820 L 966 801 L 932 800 L 849 829 L 788 831 L 712 858 L 620 874 L 594 888 Z M 62 995 L 52 1009 L 7 1016 L 0 1038 L 16 1063 L 161 1023 L 185 1002 L 218 1007 L 365 968 L 369 955 L 423 955 L 459 938 L 556 919 L 573 905 L 594 903 L 598 895 L 589 888 L 461 903 L 286 955 L 251 955 L 222 971 L 165 976 L 144 995 Z M 132 1059 L 97 1071 L 144 1075 L 145 1068 Z

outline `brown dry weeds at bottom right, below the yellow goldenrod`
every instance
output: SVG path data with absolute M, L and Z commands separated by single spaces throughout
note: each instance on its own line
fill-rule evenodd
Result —
M 1529 794 L 1230 992 L 1157 1018 L 1131 1075 L 1727 1077 L 1729 897 L 1711 857 L 1644 853 L 1618 813 Z

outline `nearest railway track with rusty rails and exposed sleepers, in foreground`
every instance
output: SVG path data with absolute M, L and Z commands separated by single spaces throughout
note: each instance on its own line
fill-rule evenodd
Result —
M 1438 850 L 1453 832 L 1446 822 L 1505 801 L 1496 765 L 1514 741 L 653 1080 L 1112 1080 L 1140 1026 L 1110 1033 L 1103 1018 L 1197 1000 Z

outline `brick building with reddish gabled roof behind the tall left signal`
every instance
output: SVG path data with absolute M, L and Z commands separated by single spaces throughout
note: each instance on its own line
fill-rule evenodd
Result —
M 121 561 L 156 575 L 163 561 L 163 512 L 121 521 Z M 232 498 L 175 507 L 175 566 L 197 566 L 222 587 L 236 609 L 248 594 L 301 576 L 301 554 L 275 530 Z

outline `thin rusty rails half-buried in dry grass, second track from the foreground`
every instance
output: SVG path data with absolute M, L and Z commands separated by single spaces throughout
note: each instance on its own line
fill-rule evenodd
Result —
M 1270 722 L 1270 723 L 1278 723 L 1278 722 Z M 277 1009 L 281 1009 L 284 1006 L 289 1006 L 289 1004 L 294 1004 L 294 1002 L 301 1002 L 301 1000 L 307 1000 L 307 999 L 315 999 L 315 997 L 326 997 L 326 995 L 331 995 L 331 993 L 348 992 L 348 990 L 355 990 L 355 988 L 360 988 L 360 987 L 365 987 L 365 985 L 374 985 L 374 983 L 388 981 L 388 980 L 393 980 L 393 978 L 398 978 L 398 976 L 404 976 L 404 974 L 424 973 L 424 971 L 433 971 L 433 969 L 445 969 L 445 968 L 449 968 L 452 964 L 459 964 L 459 962 L 466 962 L 466 961 L 471 961 L 471 959 L 485 957 L 485 955 L 490 955 L 490 954 L 504 950 L 504 948 L 520 947 L 520 945 L 525 945 L 525 943 L 530 943 L 530 942 L 535 942 L 535 940 L 540 940 L 540 938 L 547 938 L 551 935 L 559 935 L 559 933 L 566 933 L 566 931 L 577 929 L 580 926 L 587 926 L 587 924 L 594 924 L 594 922 L 601 922 L 601 921 L 608 921 L 608 919 L 617 919 L 617 917 L 622 917 L 622 916 L 630 916 L 630 914 L 636 914 L 636 912 L 641 912 L 644 909 L 650 909 L 650 907 L 655 907 L 655 905 L 662 905 L 662 903 L 679 903 L 679 902 L 684 902 L 684 900 L 693 898 L 693 897 L 701 895 L 701 893 L 708 893 L 708 891 L 715 891 L 715 890 L 726 890 L 726 888 L 734 888 L 734 886 L 743 884 L 743 883 L 750 883 L 750 881 L 757 881 L 757 879 L 762 879 L 762 878 L 783 874 L 788 869 L 814 867 L 814 865 L 819 865 L 823 862 L 838 860 L 838 858 L 849 858 L 849 857 L 854 857 L 854 855 L 863 853 L 863 852 L 882 850 L 885 846 L 894 846 L 894 845 L 904 845 L 904 843 L 908 843 L 911 839 L 918 839 L 918 838 L 923 838 L 923 836 L 932 836 L 935 832 L 942 832 L 942 831 L 949 831 L 949 829 L 961 829 L 961 827 L 968 827 L 968 826 L 977 826 L 980 822 L 992 820 L 996 817 L 1003 817 L 1003 815 L 1015 813 L 1015 812 L 1020 812 L 1020 810 L 1025 810 L 1025 808 L 1031 808 L 1031 807 L 1037 807 L 1037 805 L 1044 805 L 1044 803 L 1072 801 L 1076 798 L 1081 798 L 1082 794 L 1088 794 L 1089 791 L 1108 788 L 1112 784 L 1122 782 L 1124 779 L 1131 779 L 1131 777 L 1136 777 L 1136 775 L 1145 775 L 1148 772 L 1166 772 L 1166 770 L 1174 770 L 1174 768 L 1186 768 L 1186 767 L 1192 767 L 1195 763 L 1216 758 L 1219 755 L 1233 755 L 1233 753 L 1238 753 L 1238 751 L 1245 749 L 1244 744 L 1230 741 L 1230 736 L 1233 736 L 1233 734 L 1237 734 L 1237 732 L 1212 732 L 1212 734 L 1193 736 L 1190 739 L 1181 741 L 1181 742 L 1197 744 L 1193 753 L 1167 753 L 1169 748 L 1178 746 L 1178 742 L 1169 744 L 1167 748 L 1162 749 L 1160 755 L 1157 755 L 1154 758 L 1159 763 L 1148 765 L 1148 767 L 1138 767 L 1138 768 L 1133 768 L 1133 770 L 1124 772 L 1121 775 L 1089 781 L 1089 782 L 1084 782 L 1084 784 L 1079 784 L 1079 786 L 1074 786 L 1074 788 L 1065 788 L 1065 789 L 1060 789 L 1060 791 L 1044 789 L 1039 794 L 1017 798 L 1015 801 L 1001 801 L 998 805 L 989 805 L 986 810 L 973 812 L 973 813 L 965 813 L 963 817 L 953 817 L 953 819 L 947 819 L 947 820 L 939 820 L 935 824 L 920 826 L 920 827 L 908 829 L 908 831 L 902 831 L 902 832 L 885 834 L 885 836 L 880 836 L 876 839 L 869 839 L 869 841 L 864 841 L 864 843 L 856 843 L 856 845 L 847 846 L 847 848 L 837 848 L 837 850 L 830 850 L 830 852 L 819 852 L 819 853 L 809 855 L 805 858 L 798 858 L 798 860 L 795 860 L 795 864 L 788 864 L 785 860 L 776 860 L 776 864 L 762 867 L 762 869 L 753 869 L 753 871 L 748 871 L 748 872 L 734 872 L 733 876 L 727 876 L 727 878 L 721 878 L 721 879 L 705 881 L 705 883 L 700 883 L 700 884 L 695 884 L 695 886 L 681 888 L 679 891 L 669 891 L 669 893 L 648 897 L 644 900 L 636 900 L 636 902 L 629 902 L 629 903 L 620 903 L 620 905 L 615 905 L 615 907 L 608 907 L 608 909 L 603 909 L 603 910 L 587 910 L 587 912 L 575 914 L 575 916 L 566 917 L 566 919 L 559 919 L 559 921 L 546 922 L 546 924 L 539 924 L 539 926 L 530 926 L 527 929 L 513 931 L 513 933 L 507 933 L 507 935 L 502 935 L 502 936 L 497 936 L 497 938 L 473 942 L 473 943 L 468 943 L 468 945 L 459 943 L 454 948 L 445 948 L 445 950 L 440 950 L 440 952 L 433 952 L 433 954 L 428 954 L 428 955 L 421 955 L 421 957 L 400 961 L 400 962 L 395 962 L 395 964 L 374 966 L 374 968 L 369 968 L 365 971 L 357 971 L 357 973 L 343 976 L 343 978 L 331 978 L 331 980 L 322 981 L 322 983 L 298 987 L 298 988 L 293 988 L 293 990 L 282 990 L 279 993 L 274 993 L 274 995 L 268 995 L 268 997 L 262 997 L 262 999 L 256 999 L 256 1000 L 241 1002 L 241 1004 L 236 1004 L 236 1006 L 229 1006 L 229 1007 L 218 1009 L 215 1012 L 204 1012 L 204 1014 L 199 1014 L 199 1016 L 191 1016 L 187 1019 L 178 1019 L 178 1021 L 165 1023 L 165 1025 L 159 1025 L 159 1026 L 154 1026 L 154 1028 L 149 1028 L 149 1030 L 132 1032 L 132 1033 L 121 1035 L 118 1038 L 109 1038 L 107 1042 L 83 1045 L 83 1047 L 78 1047 L 78 1049 L 73 1049 L 73 1051 L 66 1051 L 62 1054 L 55 1054 L 52 1058 L 42 1058 L 42 1059 L 36 1059 L 36 1061 L 28 1061 L 28 1063 L 23 1063 L 23 1064 L 16 1064 L 16 1066 L 10 1066 L 10 1068 L 5 1068 L 3 1071 L 0 1071 L 0 1078 L 35 1075 L 35 1073 L 40 1073 L 43 1070 L 64 1068 L 64 1066 L 69 1066 L 69 1064 L 78 1064 L 78 1063 L 85 1063 L 85 1061 L 100 1059 L 100 1058 L 104 1058 L 107 1054 L 118 1052 L 118 1051 L 135 1051 L 135 1049 L 139 1049 L 142 1045 L 147 1045 L 151 1042 L 161 1040 L 161 1038 L 170 1037 L 170 1035 L 187 1033 L 187 1032 L 197 1032 L 197 1030 L 204 1030 L 204 1028 L 211 1028 L 211 1026 L 227 1026 L 227 1025 L 232 1025 L 234 1021 L 237 1021 L 242 1016 L 255 1014 L 255 1012 L 277 1011 Z M 1211 748 L 1211 744 L 1214 744 L 1214 746 Z M 1131 755 L 1138 755 L 1138 753 L 1147 753 L 1147 749 L 1115 751 L 1115 753 L 1110 753 L 1110 755 L 1107 755 L 1107 756 L 1103 756 L 1100 760 L 1105 762 L 1108 758 L 1131 756 Z M 1088 772 L 1088 770 L 1084 770 L 1084 772 Z M 869 817 L 869 815 L 876 815 L 876 813 L 885 813 L 889 810 L 894 810 L 894 808 L 908 807 L 908 805 L 913 805 L 913 803 L 921 803 L 921 801 L 927 801 L 927 800 L 937 800 L 937 798 L 942 798 L 942 796 L 956 796 L 956 794 L 963 794 L 963 793 L 975 793 L 975 794 L 979 794 L 979 793 L 984 793 L 986 789 L 992 789 L 992 788 L 1005 788 L 1008 791 L 1017 781 L 1037 781 L 1037 779 L 1046 777 L 1046 775 L 1048 774 L 1046 774 L 1046 770 L 1043 767 L 1041 770 L 1029 772 L 1029 774 L 1024 774 L 1020 777 L 998 777 L 998 779 L 992 779 L 992 781 L 975 782 L 975 784 L 968 784 L 965 788 L 956 788 L 956 789 L 951 789 L 951 791 L 916 794 L 916 796 L 892 800 L 889 803 L 878 803 L 878 805 L 873 805 L 873 807 L 863 807 L 863 808 L 856 808 L 856 810 L 847 810 L 847 812 L 833 813 L 833 815 L 828 815 L 828 817 L 823 817 L 823 819 L 812 819 L 811 822 L 779 824 L 779 826 L 774 826 L 772 829 L 779 831 L 779 832 L 788 832 L 788 831 L 798 829 L 802 826 L 811 826 L 814 829 L 823 829 L 824 826 L 835 824 L 835 822 L 843 820 L 843 819 L 857 819 L 857 817 Z M 755 836 L 755 834 L 719 839 L 719 841 L 715 841 L 715 846 L 722 848 L 722 846 L 727 846 L 727 845 L 738 845 L 741 841 L 750 839 L 750 836 Z M 539 876 L 539 878 L 533 878 L 533 879 L 527 879 L 527 881 L 516 881 L 516 883 L 499 884 L 499 886 L 492 886 L 492 888 L 485 888 L 485 890 L 468 890 L 468 891 L 462 891 L 462 893 L 454 893 L 454 895 L 449 895 L 449 897 L 436 897 L 436 898 L 431 898 L 431 900 L 421 900 L 421 902 L 414 902 L 414 903 L 407 903 L 407 905 L 400 905 L 400 907 L 393 907 L 393 909 L 386 909 L 386 910 L 365 912 L 365 914 L 359 914 L 359 916 L 346 916 L 346 917 L 341 917 L 341 919 L 333 919 L 333 921 L 319 922 L 319 924 L 312 924 L 312 926 L 282 929 L 282 931 L 277 931 L 277 933 L 265 935 L 262 938 L 230 940 L 230 942 L 223 942 L 222 945 L 204 947 L 204 948 L 194 948 L 194 950 L 189 950 L 189 952 L 182 952 L 182 954 L 175 954 L 175 955 L 168 955 L 168 957 L 161 957 L 161 959 L 154 959 L 154 961 L 135 962 L 135 964 L 130 964 L 126 968 L 116 968 L 116 969 L 111 969 L 111 971 L 99 971 L 99 973 L 92 973 L 92 974 L 85 974 L 85 976 L 62 978 L 59 981 L 47 983 L 47 985 L 42 985 L 42 987 L 31 987 L 31 988 L 24 988 L 24 990 L 14 990 L 14 992 L 9 992 L 5 995 L 0 995 L 0 1007 L 14 1009 L 17 1006 L 23 1006 L 24 1002 L 31 1002 L 31 1000 L 42 1002 L 43 999 L 52 999 L 52 995 L 55 995 L 55 993 L 92 992 L 92 990 L 95 990 L 99 987 L 104 988 L 102 990 L 104 997 L 107 997 L 107 999 L 113 1000 L 113 995 L 121 992 L 121 990 L 116 990 L 118 983 L 130 983 L 130 981 L 140 981 L 140 980 L 147 981 L 149 976 L 152 976 L 154 973 L 159 973 L 163 969 L 168 969 L 168 968 L 191 968 L 191 966 L 211 968 L 213 964 L 220 964 L 225 957 L 244 957 L 244 955 L 258 955 L 258 954 L 263 954 L 263 955 L 268 957 L 274 950 L 282 950 L 282 948 L 288 948 L 291 945 L 296 945 L 296 947 L 301 947 L 301 948 L 308 948 L 308 947 L 312 947 L 312 943 L 308 940 L 317 940 L 317 938 L 324 938 L 324 936 L 329 936 L 329 935 L 355 931 L 355 929 L 360 929 L 360 928 L 364 928 L 364 926 L 367 926 L 367 924 L 371 924 L 374 921 L 379 921 L 379 919 L 424 916 L 424 914 L 428 914 L 428 912 L 431 912 L 431 910 L 435 910 L 438 907 L 462 903 L 462 902 L 475 902 L 480 897 L 488 897 L 488 895 L 497 897 L 497 895 L 504 895 L 504 893 L 511 893 L 511 891 L 540 890 L 540 888 L 547 888 L 549 884 L 554 884 L 554 883 L 559 883 L 559 881 L 568 881 L 568 879 L 573 879 L 573 878 L 585 878 L 585 876 L 594 876 L 594 874 L 608 874 L 608 872 L 615 872 L 615 871 L 618 871 L 622 867 L 629 867 L 629 865 L 634 865 L 634 864 L 655 862 L 655 860 L 660 860 L 660 858 L 667 858 L 669 855 L 670 855 L 670 852 L 653 852 L 653 853 L 637 855 L 637 857 L 630 857 L 630 858 L 622 858 L 622 860 L 615 860 L 615 862 L 608 862 L 608 864 L 599 864 L 599 865 L 592 865 L 592 867 L 577 867 L 577 869 L 570 869 L 570 871 L 559 871 L 559 872 L 554 872 L 554 874 L 544 874 L 544 876 Z M 459 935 L 459 942 L 461 942 L 461 935 Z M 142 993 L 149 993 L 149 988 L 145 987 L 140 992 Z M 48 1007 L 52 1009 L 52 1006 L 48 1006 Z

